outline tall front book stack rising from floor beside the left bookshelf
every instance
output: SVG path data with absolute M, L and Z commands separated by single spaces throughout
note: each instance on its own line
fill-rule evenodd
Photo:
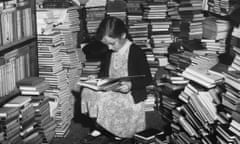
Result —
M 44 41 L 46 37 L 48 41 Z M 49 89 L 45 91 L 46 96 L 54 99 L 51 101 L 50 107 L 51 116 L 56 118 L 56 137 L 64 137 L 68 134 L 73 117 L 71 93 L 69 85 L 66 83 L 67 70 L 63 69 L 60 55 L 62 46 L 60 32 L 38 35 L 39 77 L 45 78 L 50 85 Z

